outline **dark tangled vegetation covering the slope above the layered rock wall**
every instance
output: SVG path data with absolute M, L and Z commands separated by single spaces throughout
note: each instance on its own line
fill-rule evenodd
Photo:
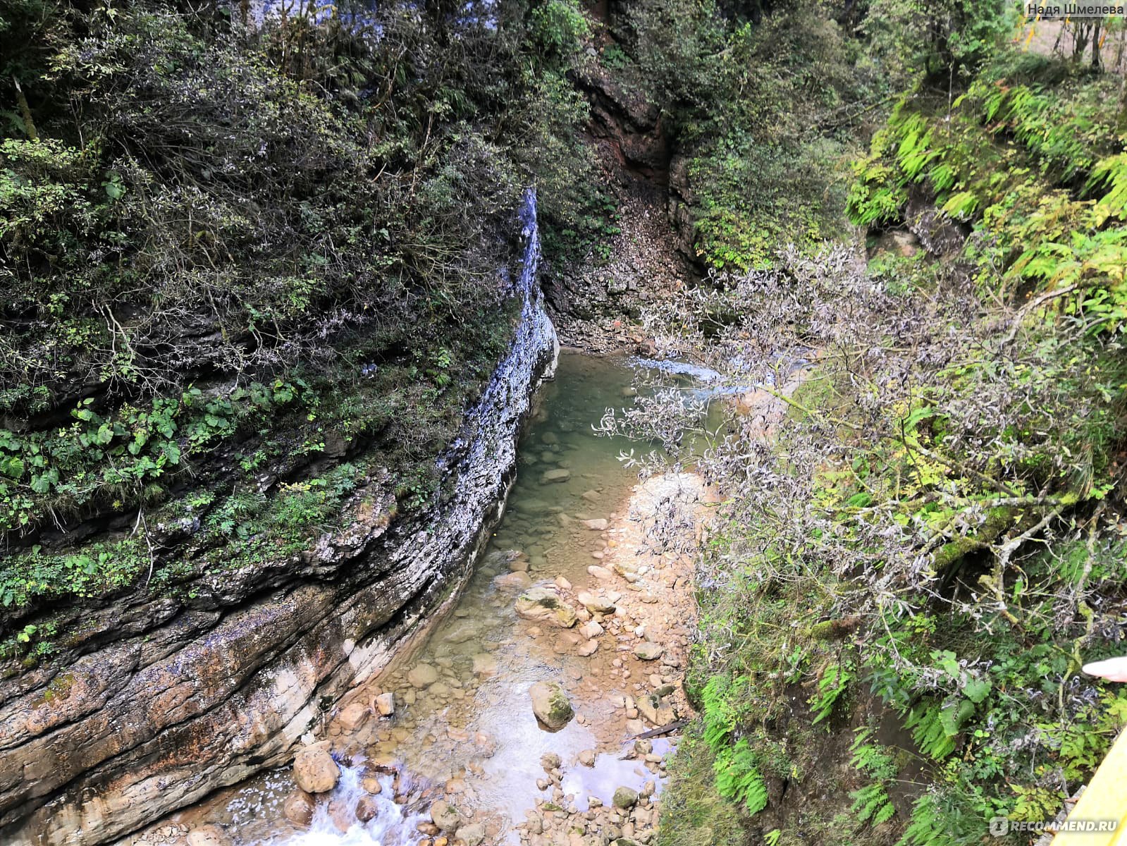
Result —
M 54 607 L 440 495 L 521 192 L 548 227 L 601 208 L 568 0 L 248 10 L 0 12 L 5 658 L 50 653 Z

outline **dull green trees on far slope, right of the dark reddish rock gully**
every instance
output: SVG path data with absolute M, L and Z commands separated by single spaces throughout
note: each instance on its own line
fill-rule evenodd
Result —
M 834 124 L 864 89 L 837 26 L 815 3 L 748 21 L 715 2 L 631 6 L 641 78 L 687 159 L 695 250 L 711 267 L 771 264 L 843 229 L 848 149 Z

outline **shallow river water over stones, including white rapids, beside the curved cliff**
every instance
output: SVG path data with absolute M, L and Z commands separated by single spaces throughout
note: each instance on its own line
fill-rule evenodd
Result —
M 640 488 L 618 458 L 630 444 L 592 430 L 607 407 L 632 402 L 632 374 L 624 360 L 561 355 L 522 440 L 507 511 L 456 606 L 410 655 L 347 699 L 357 705 L 317 732 L 344 766 L 310 826 L 287 819 L 300 817 L 290 769 L 267 773 L 171 822 L 219 825 L 233 844 L 443 846 L 455 839 L 453 830 L 440 832 L 432 823 L 432 802 L 442 799 L 480 826 L 485 843 L 518 844 L 514 827 L 536 812 L 538 800 L 541 816 L 544 809 L 575 814 L 587 812 L 588 803 L 610 807 L 619 787 L 644 797 L 659 792 L 669 741 L 636 744 L 633 737 L 672 719 L 671 691 L 681 676 L 672 655 L 685 644 L 685 620 L 666 594 L 676 587 L 687 596 L 687 578 L 671 566 L 664 583 L 656 567 L 644 566 L 649 578 L 630 574 L 628 583 L 609 570 L 620 543 L 638 543 L 628 541 L 630 530 L 622 527 Z M 516 615 L 514 600 L 533 584 L 559 585 L 568 597 L 597 590 L 600 601 L 611 602 L 632 591 L 640 610 L 625 613 L 623 599 L 616 615 L 613 607 L 594 615 L 605 635 L 592 636 L 591 628 L 580 635 L 584 619 L 592 622 L 582 597 L 574 628 Z M 636 659 L 637 643 L 653 637 L 642 623 L 669 644 L 664 660 Z M 533 714 L 529 689 L 539 680 L 562 685 L 575 708 L 559 731 L 548 731 Z M 655 689 L 669 702 L 654 697 Z M 376 696 L 387 693 L 394 711 L 381 715 Z M 646 696 L 649 720 L 642 721 L 636 698 Z M 545 755 L 560 759 L 554 783 Z M 645 814 L 647 801 L 636 816 Z M 154 834 L 144 841 L 160 843 Z

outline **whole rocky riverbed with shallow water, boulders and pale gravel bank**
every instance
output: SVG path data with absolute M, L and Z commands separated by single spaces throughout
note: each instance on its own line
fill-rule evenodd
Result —
M 134 843 L 650 840 L 675 735 L 638 735 L 689 714 L 692 559 L 678 550 L 707 496 L 691 475 L 636 484 L 619 444 L 592 434 L 607 402 L 629 402 L 627 369 L 565 356 L 560 372 L 450 616 L 327 713 L 294 769 Z M 601 388 L 580 399 L 575 376 Z

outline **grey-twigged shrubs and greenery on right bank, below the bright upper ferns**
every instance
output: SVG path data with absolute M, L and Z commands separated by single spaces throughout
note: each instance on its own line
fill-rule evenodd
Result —
M 699 461 L 729 499 L 691 679 L 717 791 L 783 843 L 806 828 L 977 843 L 993 817 L 1050 819 L 1127 716 L 1122 693 L 1079 673 L 1121 650 L 1127 614 L 1117 341 L 880 258 L 780 256 L 689 324 L 712 335 L 719 307 L 751 303 L 698 349 L 762 362 L 736 384 L 788 386 L 765 391 L 789 409 L 773 431 L 733 420 Z M 805 793 L 850 729 L 864 741 L 835 770 L 851 802 L 833 812 L 772 814 L 727 776 Z M 686 809 L 667 813 L 683 832 Z

